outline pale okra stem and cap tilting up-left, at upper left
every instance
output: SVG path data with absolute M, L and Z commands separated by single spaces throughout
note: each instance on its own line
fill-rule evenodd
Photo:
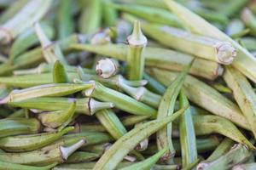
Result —
M 55 63 L 56 60 L 60 60 L 62 64 L 67 65 L 67 61 L 61 52 L 61 47 L 58 44 L 53 44 L 49 41 L 49 38 L 45 35 L 39 23 L 34 24 L 34 29 L 41 42 L 44 59 L 48 63 Z

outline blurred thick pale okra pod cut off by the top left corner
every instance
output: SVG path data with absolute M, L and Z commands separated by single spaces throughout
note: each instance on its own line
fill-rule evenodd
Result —
M 52 0 L 33 0 L 26 3 L 12 19 L 6 21 L 1 26 L 0 42 L 9 43 L 22 31 L 32 26 L 48 11 Z

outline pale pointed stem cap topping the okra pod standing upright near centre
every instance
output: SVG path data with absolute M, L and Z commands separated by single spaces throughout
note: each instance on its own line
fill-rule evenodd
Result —
M 132 46 L 145 46 L 148 42 L 147 37 L 143 35 L 141 23 L 138 20 L 134 21 L 133 31 L 131 36 L 127 38 L 129 45 Z

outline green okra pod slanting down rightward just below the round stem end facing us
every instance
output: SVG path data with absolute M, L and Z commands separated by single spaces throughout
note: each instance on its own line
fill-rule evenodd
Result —
M 79 80 L 75 81 L 80 82 Z M 153 108 L 138 102 L 136 99 L 132 99 L 131 97 L 121 94 L 111 88 L 106 88 L 99 82 L 91 81 L 91 83 L 93 84 L 93 87 L 84 91 L 86 96 L 92 96 L 102 101 L 111 101 L 116 108 L 127 111 L 131 114 L 156 115 L 156 111 Z

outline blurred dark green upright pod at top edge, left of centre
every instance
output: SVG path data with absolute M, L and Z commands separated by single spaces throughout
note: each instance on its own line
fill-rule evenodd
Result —
M 59 4 L 57 11 L 58 38 L 68 37 L 74 31 L 73 14 L 69 10 L 71 5 L 72 1 L 70 0 L 61 1 Z

